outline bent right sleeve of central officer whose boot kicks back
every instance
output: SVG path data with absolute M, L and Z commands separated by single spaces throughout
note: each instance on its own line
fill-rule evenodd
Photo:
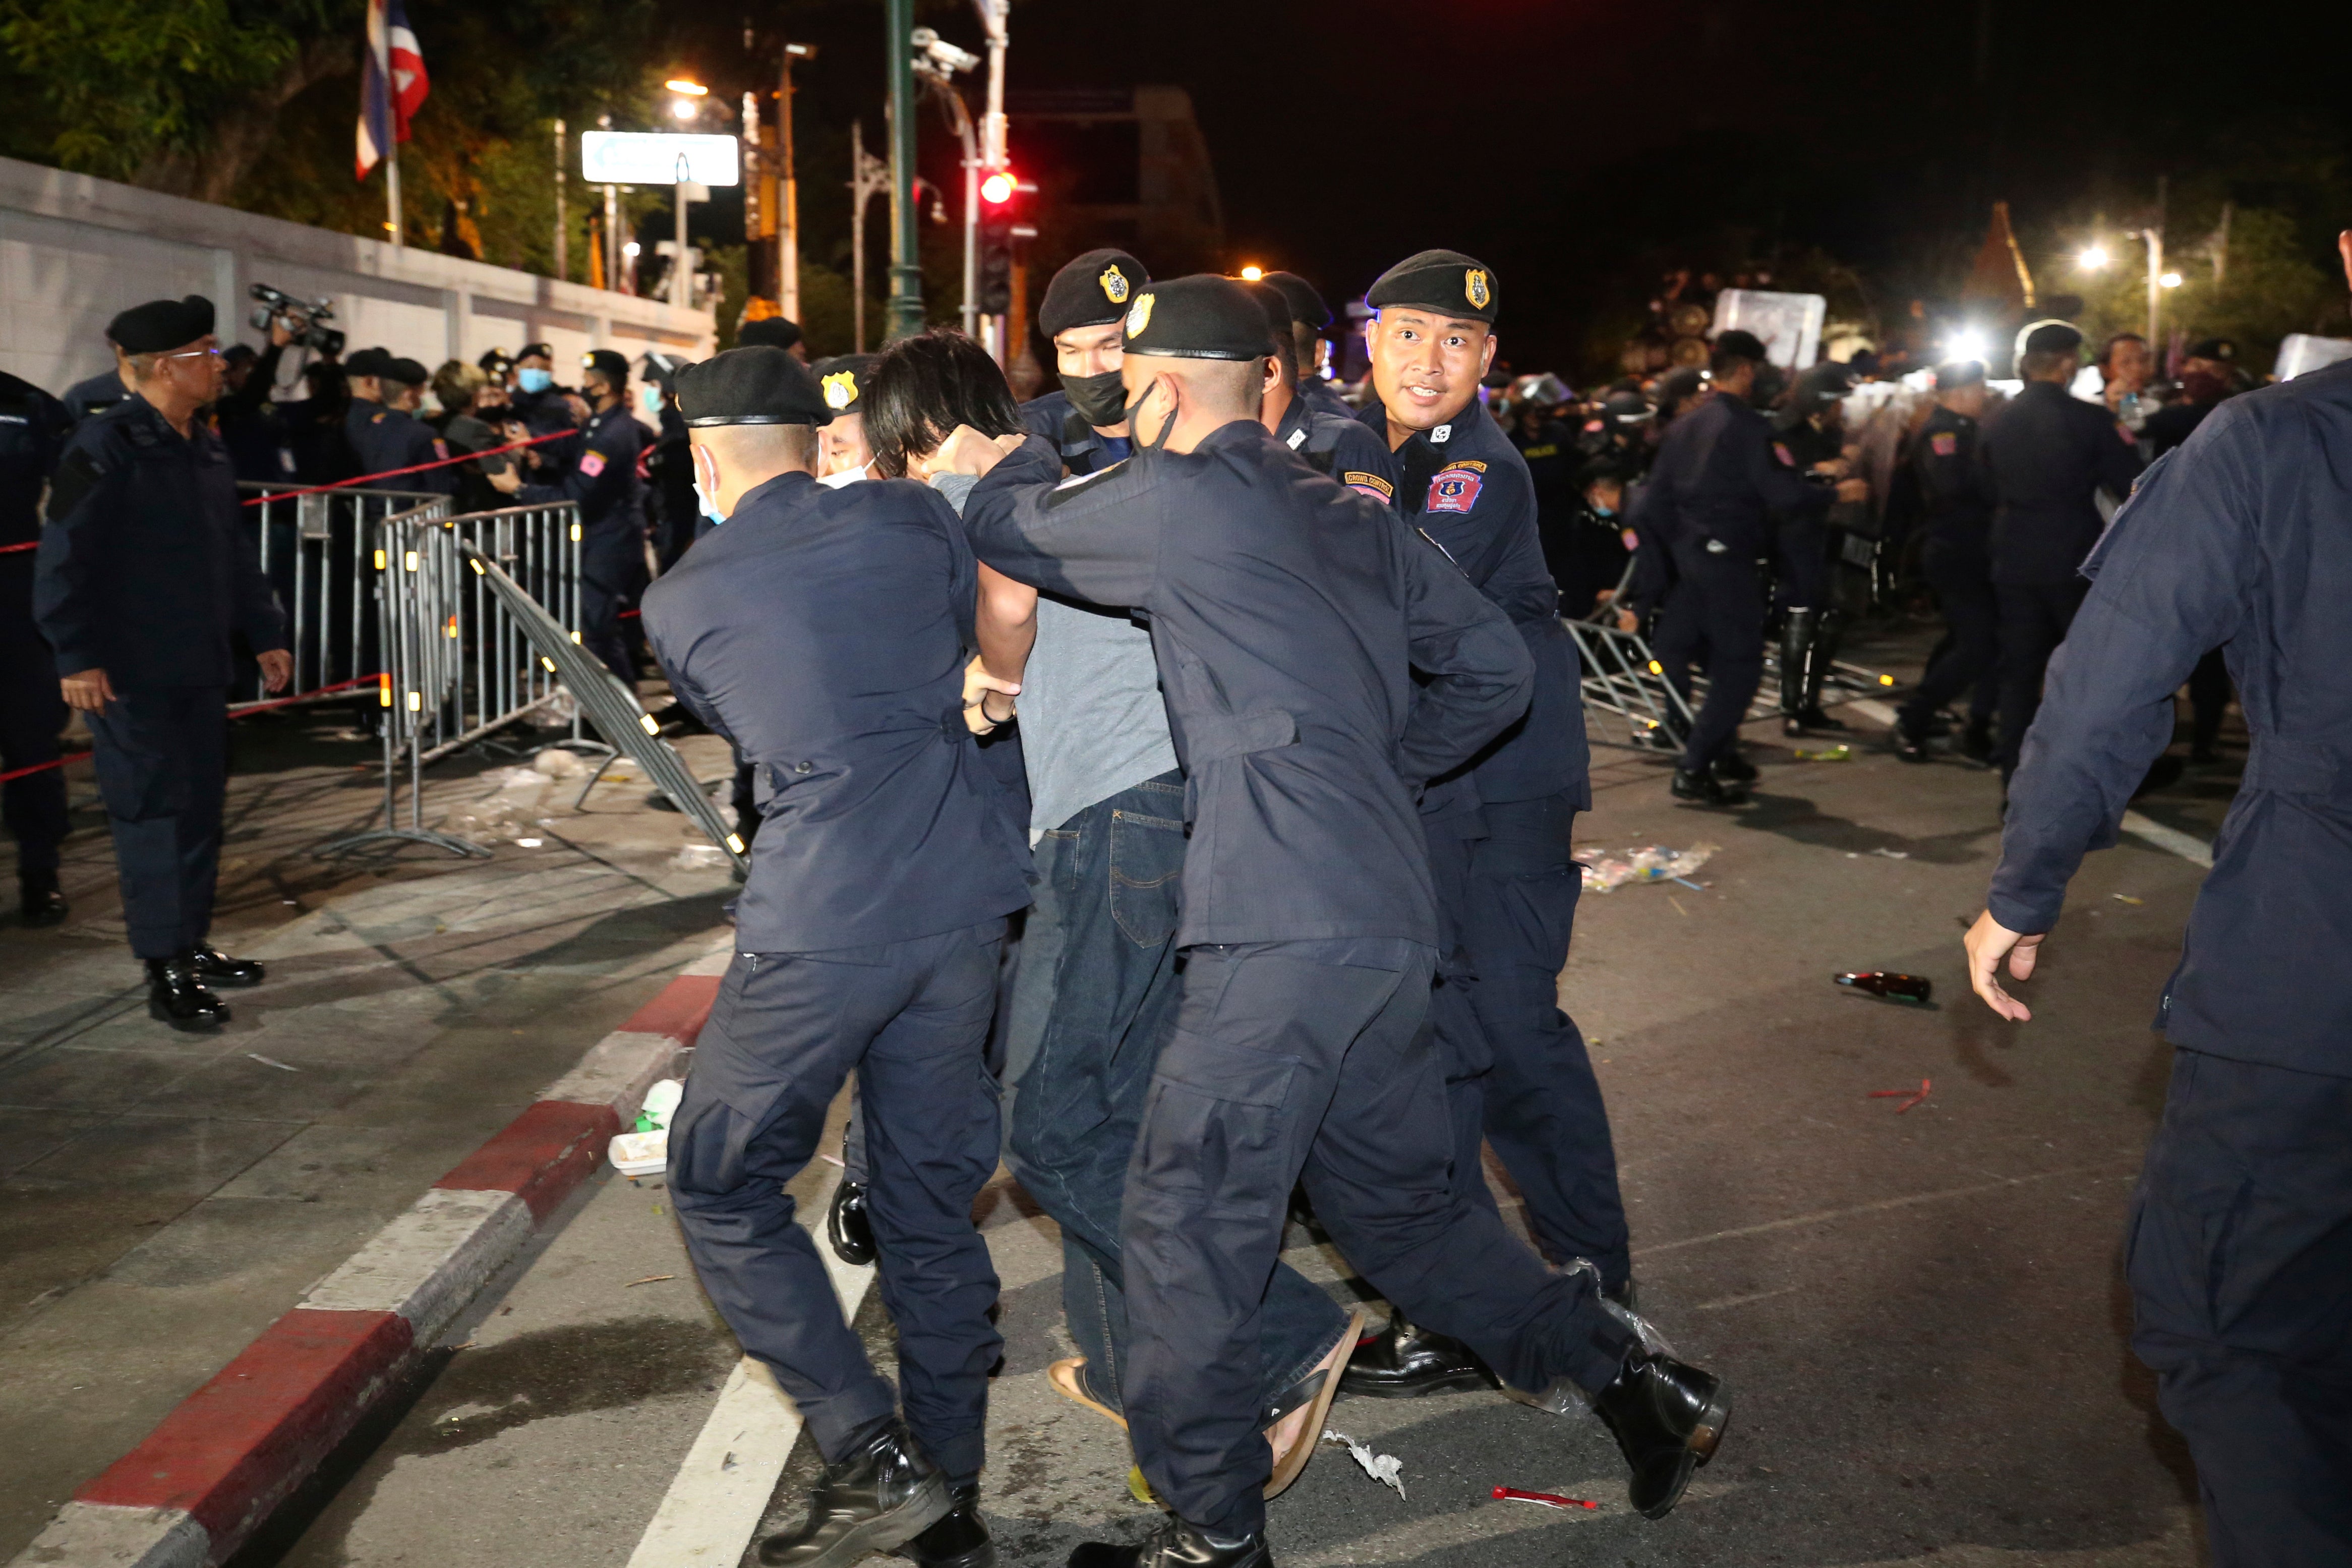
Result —
M 1404 635 L 1414 668 L 1430 677 L 1414 693 L 1397 766 L 1404 783 L 1423 785 L 1468 762 L 1526 712 L 1536 661 L 1510 618 L 1435 541 L 1411 524 L 1395 527 L 1402 534 Z

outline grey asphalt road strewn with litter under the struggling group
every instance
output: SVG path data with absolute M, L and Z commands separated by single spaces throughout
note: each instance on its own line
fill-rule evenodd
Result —
M 2201 1561 L 2119 1276 L 2169 1072 L 2147 1023 L 2199 867 L 2136 839 L 2093 856 L 2025 987 L 2034 1023 L 2004 1025 L 1969 997 L 1959 950 L 1997 853 L 1997 780 L 1905 766 L 1860 724 L 1846 762 L 1750 736 L 1764 780 L 1736 813 L 1672 804 L 1653 759 L 1599 757 L 1588 849 L 1715 853 L 1698 886 L 1588 893 L 1562 976 L 1616 1121 L 1644 1309 L 1733 1387 L 1722 1455 L 1651 1523 L 1590 1418 L 1489 1394 L 1343 1399 L 1329 1425 L 1397 1455 L 1404 1495 L 1324 1448 L 1272 1509 L 1287 1568 Z M 2232 785 L 2192 778 L 2143 809 L 2209 839 Z M 1842 992 L 1846 969 L 1924 973 L 1936 1006 Z M 1912 1110 L 1872 1098 L 1922 1081 Z M 804 1218 L 828 1182 L 828 1166 L 802 1178 Z M 1054 1227 L 1002 1180 L 978 1218 L 1004 1281 L 983 1481 L 1002 1561 L 1138 1537 L 1152 1514 L 1127 1497 L 1122 1434 L 1044 1385 L 1070 1354 Z M 1289 1244 L 1331 1291 L 1369 1291 L 1305 1232 Z M 873 1293 L 858 1324 L 887 1356 Z M 736 1363 L 659 1180 L 593 1185 L 449 1342 L 466 1349 L 240 1568 L 724 1568 L 743 1549 L 750 1514 L 731 1537 L 640 1552 Z M 757 1472 L 755 1448 L 722 1443 L 720 1467 Z M 797 1514 L 809 1476 L 800 1443 L 760 1530 Z M 1494 1502 L 1496 1483 L 1602 1507 Z

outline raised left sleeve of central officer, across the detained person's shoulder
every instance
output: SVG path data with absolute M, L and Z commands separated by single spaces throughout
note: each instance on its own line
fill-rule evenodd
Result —
M 990 468 L 964 503 L 971 552 L 1016 583 L 1105 609 L 1150 609 L 1160 581 L 1164 480 L 1129 458 L 1061 480 L 1044 437 Z

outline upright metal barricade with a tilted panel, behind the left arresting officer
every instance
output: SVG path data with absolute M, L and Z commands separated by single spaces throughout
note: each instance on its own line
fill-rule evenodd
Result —
M 555 701 L 564 682 L 534 649 L 536 625 L 579 644 L 581 524 L 579 505 L 515 505 L 447 515 L 447 501 L 386 515 L 372 548 L 376 646 L 383 665 L 383 825 L 320 853 L 362 844 L 412 842 L 454 856 L 489 856 L 468 839 L 423 825 L 423 766 L 482 741 Z M 513 588 L 494 592 L 487 574 Z M 619 682 L 614 682 L 619 684 Z M 579 719 L 572 722 L 579 738 Z M 407 823 L 400 820 L 400 773 L 409 776 Z

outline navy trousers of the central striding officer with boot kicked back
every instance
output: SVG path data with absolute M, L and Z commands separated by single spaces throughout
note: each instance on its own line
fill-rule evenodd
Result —
M 1127 1413 L 1143 1474 L 1197 1526 L 1265 1523 L 1261 1302 L 1301 1175 L 1397 1309 L 1515 1387 L 1604 1387 L 1632 1345 L 1590 1274 L 1550 1272 L 1456 1190 L 1432 966 L 1374 938 L 1188 950 L 1127 1173 Z

